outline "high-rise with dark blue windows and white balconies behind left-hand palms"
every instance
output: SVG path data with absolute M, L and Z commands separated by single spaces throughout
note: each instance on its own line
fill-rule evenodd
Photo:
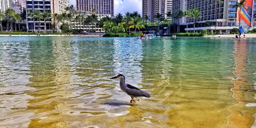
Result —
M 51 9 L 52 14 L 61 14 L 64 12 L 64 9 L 68 7 L 70 4 L 69 0 L 26 0 L 26 11 L 29 9 L 39 10 L 41 13 L 47 11 L 47 9 Z M 46 31 L 51 31 L 50 25 L 54 23 L 54 19 L 46 20 L 46 26 L 44 24 L 44 20 L 40 20 L 39 24 L 37 19 L 30 19 L 30 16 L 27 17 L 27 27 L 28 31 L 44 31 L 46 27 Z M 40 28 L 39 28 L 40 27 Z

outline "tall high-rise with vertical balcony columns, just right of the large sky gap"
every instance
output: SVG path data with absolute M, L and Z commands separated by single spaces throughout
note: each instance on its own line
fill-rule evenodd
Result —
M 157 13 L 167 18 L 168 11 L 172 11 L 172 0 L 142 0 L 142 16 L 149 16 L 149 22 L 157 21 L 154 17 Z

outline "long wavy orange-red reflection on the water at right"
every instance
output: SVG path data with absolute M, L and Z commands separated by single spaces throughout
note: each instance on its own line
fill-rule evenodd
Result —
M 228 110 L 232 112 L 228 117 L 228 123 L 225 127 L 248 127 L 250 125 L 251 119 L 246 117 L 243 112 L 245 107 L 245 102 L 242 100 L 244 93 L 251 90 L 250 85 L 244 76 L 248 76 L 248 71 L 246 68 L 246 63 L 248 59 L 248 43 L 245 40 L 240 40 L 235 42 L 234 45 L 234 59 L 235 67 L 234 71 L 231 71 L 237 78 L 232 79 L 231 82 L 234 87 L 231 89 L 233 91 L 233 98 L 235 98 L 238 103 L 228 107 Z M 230 79 L 229 77 L 226 77 Z

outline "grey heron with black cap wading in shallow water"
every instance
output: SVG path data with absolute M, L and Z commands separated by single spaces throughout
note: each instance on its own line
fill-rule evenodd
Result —
M 150 98 L 150 94 L 146 91 L 140 90 L 134 86 L 131 86 L 130 84 L 126 84 L 125 83 L 125 78 L 124 75 L 122 74 L 118 74 L 115 77 L 112 77 L 110 79 L 120 79 L 120 88 L 123 92 L 125 92 L 127 95 L 131 96 L 131 101 L 130 103 L 132 103 L 132 101 L 134 101 L 136 103 L 136 101 L 140 101 L 141 99 L 139 99 L 138 97 L 146 97 L 146 98 Z M 134 99 L 137 98 L 137 99 Z

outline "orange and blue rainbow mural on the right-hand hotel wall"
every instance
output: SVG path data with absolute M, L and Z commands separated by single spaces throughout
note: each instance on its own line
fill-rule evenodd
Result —
M 237 19 L 237 21 L 239 22 L 241 20 L 241 26 L 247 25 L 248 27 L 251 27 L 253 0 L 246 0 L 246 3 L 247 3 L 247 7 L 241 9 L 241 17 L 240 17 L 240 19 L 239 19 L 240 8 L 238 8 L 238 19 Z

